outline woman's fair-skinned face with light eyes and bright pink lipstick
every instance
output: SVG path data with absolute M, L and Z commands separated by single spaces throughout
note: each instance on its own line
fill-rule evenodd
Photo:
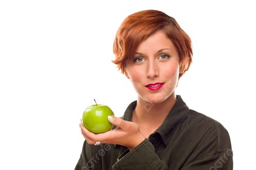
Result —
M 178 83 L 179 55 L 163 31 L 157 31 L 139 44 L 134 60 L 127 63 L 125 75 L 138 97 L 146 102 L 161 103 L 173 94 Z M 147 88 L 150 83 L 164 83 L 160 89 Z

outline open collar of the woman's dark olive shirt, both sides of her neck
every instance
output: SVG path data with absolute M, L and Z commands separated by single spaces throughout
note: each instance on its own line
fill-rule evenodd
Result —
M 132 103 L 130 103 L 121 118 L 123 118 L 125 121 L 131 121 L 132 112 L 136 108 L 136 105 L 137 101 L 133 101 Z M 166 116 L 164 122 L 159 126 L 156 131 L 154 131 L 154 133 L 160 134 L 165 146 L 167 146 L 167 144 L 169 143 L 171 139 L 170 137 L 172 136 L 177 126 L 186 119 L 189 110 L 190 109 L 187 107 L 181 96 L 176 95 L 176 103 L 173 105 L 169 114 Z M 115 128 L 116 126 L 112 129 Z M 115 147 L 116 145 L 117 144 L 114 144 Z

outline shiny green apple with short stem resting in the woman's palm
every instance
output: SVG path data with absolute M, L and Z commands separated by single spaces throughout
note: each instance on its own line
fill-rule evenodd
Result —
M 107 116 L 114 116 L 113 111 L 104 104 L 93 104 L 87 107 L 83 113 L 83 125 L 92 133 L 103 133 L 112 129 L 113 124 Z

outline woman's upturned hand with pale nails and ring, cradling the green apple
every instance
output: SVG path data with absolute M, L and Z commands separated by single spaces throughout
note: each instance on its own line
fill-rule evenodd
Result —
M 80 123 L 80 129 L 85 137 L 87 143 L 95 144 L 96 141 L 101 141 L 104 144 L 118 144 L 126 146 L 129 150 L 133 150 L 145 139 L 142 132 L 139 130 L 139 125 L 134 122 L 125 121 L 122 118 L 114 117 L 113 121 L 110 121 L 117 128 L 104 133 L 92 133 L 87 130 L 82 123 Z

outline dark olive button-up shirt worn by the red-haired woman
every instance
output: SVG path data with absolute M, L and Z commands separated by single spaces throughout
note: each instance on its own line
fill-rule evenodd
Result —
M 127 107 L 124 120 L 131 121 L 136 105 L 133 101 Z M 116 144 L 89 145 L 85 140 L 75 169 L 229 170 L 233 169 L 233 153 L 224 126 L 189 109 L 177 95 L 164 122 L 132 151 Z

